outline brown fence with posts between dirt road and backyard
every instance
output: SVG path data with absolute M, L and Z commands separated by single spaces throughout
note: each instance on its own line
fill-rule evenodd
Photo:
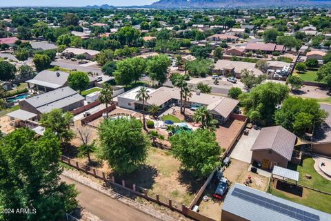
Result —
M 88 173 L 89 175 L 92 175 L 94 177 L 97 177 L 103 181 L 105 181 L 108 184 L 113 184 L 114 186 L 118 186 L 121 189 L 125 189 L 126 191 L 130 191 L 134 193 L 135 195 L 140 196 L 141 198 L 145 198 L 146 200 L 150 202 L 155 202 L 159 205 L 168 207 L 172 211 L 177 211 L 178 213 L 181 213 L 185 216 L 188 216 L 189 218 L 193 218 L 195 220 L 200 220 L 200 221 L 215 221 L 211 218 L 208 218 L 205 215 L 202 215 L 200 213 L 194 212 L 190 210 L 187 206 L 183 204 L 179 204 L 178 202 L 174 202 L 171 199 L 165 198 L 159 194 L 152 195 L 148 194 L 150 191 L 148 189 L 143 189 L 140 186 L 136 186 L 135 184 L 132 184 L 132 186 L 126 184 L 125 180 L 122 180 L 121 183 L 115 182 L 115 177 L 111 176 L 108 177 L 108 174 L 104 173 L 103 171 L 99 171 L 98 169 L 95 169 L 91 166 L 87 166 L 85 164 L 81 164 L 80 162 L 77 162 L 75 160 L 72 160 L 69 157 L 66 157 L 64 155 L 61 155 L 60 161 L 74 167 L 75 169 L 79 171 L 83 171 L 85 173 Z

